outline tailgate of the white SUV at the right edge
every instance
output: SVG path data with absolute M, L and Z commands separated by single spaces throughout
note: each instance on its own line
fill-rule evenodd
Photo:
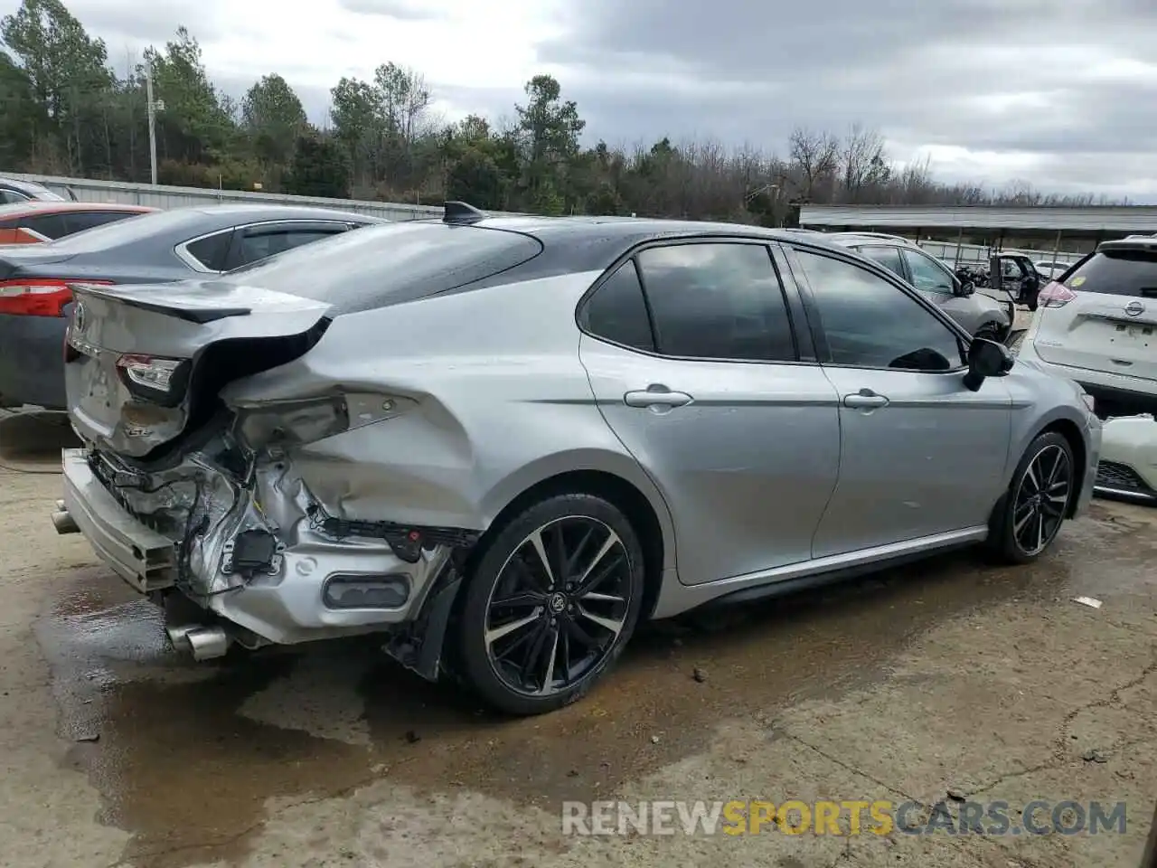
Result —
M 1106 242 L 1061 285 L 1037 311 L 1041 359 L 1157 380 L 1157 245 Z

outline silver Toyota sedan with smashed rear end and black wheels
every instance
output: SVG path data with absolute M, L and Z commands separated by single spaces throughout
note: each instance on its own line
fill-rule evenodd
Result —
M 536 714 L 642 619 L 1025 564 L 1092 491 L 1078 387 L 820 236 L 459 204 L 75 292 L 54 524 L 196 604 L 169 635 L 199 660 L 377 631 Z

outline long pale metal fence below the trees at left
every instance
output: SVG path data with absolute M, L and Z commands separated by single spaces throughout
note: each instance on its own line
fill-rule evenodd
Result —
M 370 214 L 386 220 L 419 220 L 441 216 L 441 206 L 405 205 L 400 203 L 369 201 L 366 199 L 329 199 L 312 196 L 285 196 L 281 193 L 249 192 L 244 190 L 212 190 L 192 186 L 167 186 L 159 184 L 130 184 L 123 181 L 91 181 L 89 178 L 58 178 L 47 175 L 20 175 L 2 172 L 5 177 L 35 181 L 53 192 L 67 194 L 71 191 L 80 201 L 123 203 L 147 205 L 154 208 L 182 208 L 197 205 L 249 204 L 249 205 L 302 205 L 320 208 L 338 208 L 360 214 Z M 489 212 L 498 214 L 500 212 Z

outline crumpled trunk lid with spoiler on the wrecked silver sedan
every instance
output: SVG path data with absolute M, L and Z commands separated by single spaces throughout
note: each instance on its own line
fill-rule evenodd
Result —
M 72 290 L 69 415 L 132 458 L 178 443 L 213 417 L 223 385 L 303 355 L 329 325 L 325 302 L 221 280 Z

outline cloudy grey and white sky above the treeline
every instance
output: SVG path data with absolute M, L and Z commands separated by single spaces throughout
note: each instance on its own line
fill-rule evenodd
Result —
M 388 60 L 448 119 L 510 116 L 548 72 L 613 145 L 782 153 L 796 125 L 861 122 L 944 179 L 1157 199 L 1155 0 L 66 2 L 118 66 L 185 24 L 221 87 L 278 72 L 315 120 L 340 76 Z

